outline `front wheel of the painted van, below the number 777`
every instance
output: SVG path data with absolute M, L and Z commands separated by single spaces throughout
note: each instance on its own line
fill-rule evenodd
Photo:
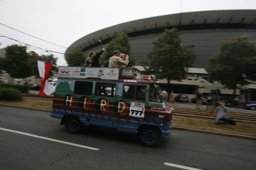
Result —
M 162 133 L 156 126 L 142 126 L 138 129 L 138 140 L 143 146 L 155 147 L 162 139 Z

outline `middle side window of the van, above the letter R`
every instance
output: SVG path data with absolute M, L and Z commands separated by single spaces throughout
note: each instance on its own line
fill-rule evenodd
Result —
M 116 84 L 107 82 L 96 82 L 95 96 L 115 97 Z

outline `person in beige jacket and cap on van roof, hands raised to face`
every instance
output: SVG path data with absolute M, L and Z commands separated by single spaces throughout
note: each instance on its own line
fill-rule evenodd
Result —
M 129 56 L 126 55 L 125 60 L 121 59 L 120 52 L 114 51 L 114 56 L 110 57 L 108 67 L 120 68 L 121 65 L 127 65 L 129 63 Z

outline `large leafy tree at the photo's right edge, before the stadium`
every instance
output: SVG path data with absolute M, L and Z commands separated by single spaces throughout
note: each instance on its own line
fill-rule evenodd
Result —
M 228 89 L 233 89 L 235 97 L 237 85 L 247 85 L 247 80 L 256 80 L 255 42 L 246 35 L 222 40 L 220 53 L 209 58 L 206 71 L 212 79 L 218 80 Z

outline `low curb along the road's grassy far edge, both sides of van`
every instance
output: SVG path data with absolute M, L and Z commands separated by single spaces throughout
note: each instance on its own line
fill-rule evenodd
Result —
M 29 107 L 23 107 L 23 106 L 1 104 L 1 103 L 0 103 L 0 105 L 7 106 L 7 107 L 35 110 L 35 111 L 44 111 L 44 112 L 48 112 L 48 113 L 50 113 L 50 111 L 51 111 L 51 110 L 46 110 L 46 109 L 29 108 Z M 218 136 L 236 137 L 236 138 L 241 138 L 241 139 L 256 140 L 256 137 L 251 137 L 251 136 L 214 132 L 214 131 L 206 131 L 206 130 L 198 130 L 198 129 L 190 129 L 190 128 L 172 127 L 172 130 L 189 131 L 189 132 L 197 132 L 197 133 L 203 133 L 203 134 L 212 134 L 212 135 L 218 135 Z

